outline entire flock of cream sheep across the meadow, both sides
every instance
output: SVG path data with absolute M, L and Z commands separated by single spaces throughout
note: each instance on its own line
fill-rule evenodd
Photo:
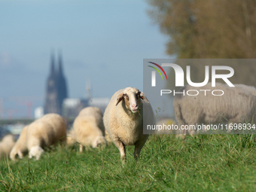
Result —
M 182 87 L 180 92 L 212 91 L 213 88 L 223 90 L 224 95 L 175 96 L 174 110 L 179 127 L 222 121 L 240 123 L 254 118 L 256 108 L 254 87 L 243 84 L 236 84 L 235 87 L 224 84 L 216 84 L 216 87 L 212 87 L 211 84 L 206 84 L 205 87 L 187 85 Z M 29 152 L 29 158 L 35 157 L 39 160 L 44 148 L 49 148 L 58 142 L 67 145 L 78 142 L 79 151 L 83 151 L 84 146 L 104 147 L 108 142 L 113 142 L 120 151 L 120 158 L 123 161 L 126 160 L 126 146 L 135 145 L 134 158 L 137 159 L 148 139 L 148 135 L 143 134 L 143 128 L 146 129 L 147 125 L 154 124 L 154 112 L 145 94 L 134 87 L 126 87 L 114 93 L 104 116 L 96 107 L 87 107 L 80 111 L 69 133 L 66 133 L 66 123 L 59 114 L 45 114 L 25 126 L 16 143 L 13 136 L 5 136 L 0 142 L 0 158 L 2 155 L 8 155 L 11 160 L 15 160 L 16 156 L 23 158 L 23 154 Z M 182 134 L 194 134 L 194 130 L 184 130 Z

